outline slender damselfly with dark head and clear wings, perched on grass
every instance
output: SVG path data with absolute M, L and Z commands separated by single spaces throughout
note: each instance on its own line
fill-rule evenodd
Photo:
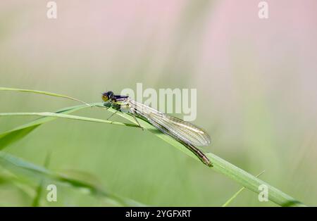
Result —
M 187 149 L 198 156 L 204 164 L 212 167 L 209 158 L 196 147 L 208 146 L 211 142 L 209 134 L 201 128 L 184 120 L 180 120 L 179 118 L 161 113 L 159 110 L 150 108 L 143 103 L 133 101 L 129 96 L 115 95 L 113 91 L 104 92 L 102 94 L 102 100 L 105 102 L 104 106 L 111 106 L 116 109 L 116 112 L 120 111 L 132 115 L 140 127 L 141 125 L 137 121 L 137 118 L 146 120 L 164 134 L 170 135 L 170 137 L 173 137 L 185 145 Z

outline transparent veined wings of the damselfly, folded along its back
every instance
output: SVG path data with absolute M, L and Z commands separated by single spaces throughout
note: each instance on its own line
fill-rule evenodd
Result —
M 209 134 L 196 125 L 161 113 L 159 110 L 145 106 L 137 101 L 130 100 L 129 103 L 130 108 L 133 108 L 137 115 L 146 118 L 146 120 L 163 133 L 194 146 L 208 146 L 211 143 Z

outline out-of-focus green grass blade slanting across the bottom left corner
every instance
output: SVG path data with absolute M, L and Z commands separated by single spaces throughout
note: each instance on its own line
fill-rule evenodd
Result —
M 89 184 L 88 182 L 79 179 L 73 179 L 66 175 L 61 175 L 57 172 L 52 172 L 39 165 L 29 163 L 21 158 L 17 158 L 8 153 L 4 153 L 3 151 L 0 151 L 0 165 L 6 168 L 6 170 L 9 170 L 13 173 L 23 172 L 23 174 L 25 174 L 25 172 L 28 172 L 28 174 L 39 179 L 51 179 L 66 186 L 70 186 L 80 190 L 88 190 L 90 194 L 102 198 L 108 198 L 111 201 L 115 201 L 120 206 L 144 206 L 144 204 L 142 203 L 138 203 L 129 198 L 116 196 L 115 194 L 108 193 L 100 189 L 99 187 L 95 187 L 94 185 Z

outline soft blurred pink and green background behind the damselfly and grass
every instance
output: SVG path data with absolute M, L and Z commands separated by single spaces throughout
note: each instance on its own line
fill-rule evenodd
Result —
M 0 1 L 0 87 L 67 94 L 89 103 L 101 92 L 196 88 L 195 124 L 208 148 L 309 206 L 317 206 L 317 1 Z M 0 92 L 0 112 L 77 105 L 36 94 Z M 97 108 L 76 115 L 108 118 Z M 5 132 L 33 117 L 0 118 Z M 123 121 L 113 117 L 114 120 Z M 49 170 L 85 177 L 149 206 L 221 206 L 240 185 L 149 132 L 55 120 L 4 149 Z M 0 182 L 0 206 L 32 197 Z M 36 187 L 36 185 L 35 185 Z M 42 206 L 111 206 L 58 186 Z M 276 206 L 244 190 L 230 206 Z

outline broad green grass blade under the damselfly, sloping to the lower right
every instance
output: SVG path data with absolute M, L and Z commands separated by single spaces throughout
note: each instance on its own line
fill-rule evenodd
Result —
M 115 112 L 113 108 L 108 108 L 109 111 Z M 130 122 L 135 122 L 134 118 L 128 114 L 125 113 L 117 113 L 121 117 L 130 120 Z M 163 139 L 164 141 L 168 142 L 168 144 L 174 146 L 175 148 L 179 149 L 180 151 L 186 153 L 188 156 L 191 156 L 195 160 L 199 160 L 192 151 L 189 151 L 184 145 L 180 144 L 180 142 L 176 141 L 172 137 L 168 136 L 167 134 L 163 134 L 159 130 L 157 130 L 154 126 L 149 124 L 149 122 L 138 119 L 140 125 L 144 128 L 149 130 L 150 132 L 154 133 L 157 137 Z M 296 199 L 292 198 L 292 196 L 289 196 L 279 189 L 276 189 L 275 187 L 272 187 L 271 185 L 267 184 L 266 182 L 263 182 L 261 179 L 258 179 L 254 175 L 249 174 L 248 172 L 237 168 L 237 166 L 232 165 L 232 163 L 229 163 L 226 160 L 223 160 L 222 158 L 216 156 L 213 153 L 206 153 L 206 156 L 211 160 L 211 163 L 213 163 L 212 169 L 216 172 L 219 172 L 230 179 L 235 180 L 235 182 L 238 182 L 243 187 L 246 187 L 247 189 L 254 191 L 256 194 L 259 194 L 259 186 L 261 184 L 265 184 L 268 187 L 268 199 L 274 203 L 277 203 L 280 206 L 305 206 L 303 203 L 297 201 Z M 199 160 L 200 161 L 200 160 Z

